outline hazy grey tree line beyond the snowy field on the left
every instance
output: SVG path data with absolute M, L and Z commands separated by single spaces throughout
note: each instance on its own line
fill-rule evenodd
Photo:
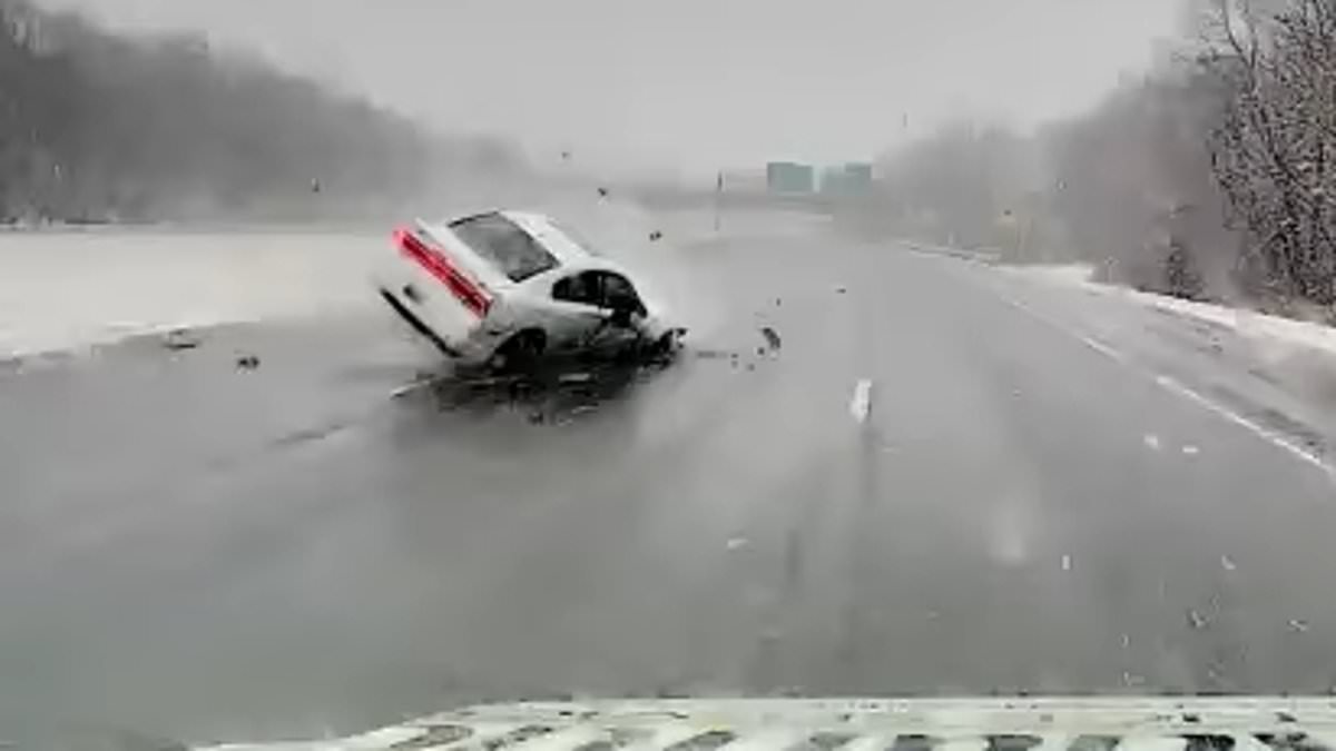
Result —
M 369 215 L 522 170 L 190 35 L 0 0 L 0 222 Z

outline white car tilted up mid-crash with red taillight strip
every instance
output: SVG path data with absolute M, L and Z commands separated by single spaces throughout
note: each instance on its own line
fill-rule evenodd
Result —
M 462 365 L 665 355 L 685 334 L 625 269 L 541 214 L 489 211 L 401 227 L 375 285 L 414 331 Z

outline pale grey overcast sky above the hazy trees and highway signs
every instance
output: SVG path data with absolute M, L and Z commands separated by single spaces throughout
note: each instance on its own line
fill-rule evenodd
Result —
M 1017 124 L 1144 69 L 1176 0 L 41 0 L 191 28 L 540 160 L 709 171 L 868 159 L 970 114 Z

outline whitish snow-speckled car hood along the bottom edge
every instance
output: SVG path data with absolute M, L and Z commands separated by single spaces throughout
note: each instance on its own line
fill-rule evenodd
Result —
M 374 732 L 211 751 L 1281 751 L 1336 748 L 1296 698 L 680 699 L 470 707 Z

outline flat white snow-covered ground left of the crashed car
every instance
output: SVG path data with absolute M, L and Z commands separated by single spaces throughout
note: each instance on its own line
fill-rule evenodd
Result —
M 374 233 L 0 233 L 0 357 L 366 305 Z

